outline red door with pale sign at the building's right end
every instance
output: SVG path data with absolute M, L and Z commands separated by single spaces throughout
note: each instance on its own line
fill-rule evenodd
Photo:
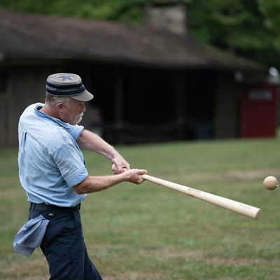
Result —
M 242 137 L 275 137 L 276 85 L 248 86 L 242 96 Z

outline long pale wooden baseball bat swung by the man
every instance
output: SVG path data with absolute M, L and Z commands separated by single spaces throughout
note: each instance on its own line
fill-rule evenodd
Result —
M 195 188 L 189 188 L 187 186 L 179 185 L 177 183 L 172 183 L 170 181 L 158 179 L 156 177 L 147 174 L 142 175 L 142 178 L 146 181 L 150 181 L 160 186 L 171 188 L 172 190 L 177 190 L 180 193 L 185 193 L 186 195 L 190 195 L 199 200 L 209 202 L 211 204 L 217 205 L 219 207 L 230 210 L 237 214 L 241 214 L 248 218 L 253 218 L 255 220 L 258 220 L 258 218 L 260 218 L 261 210 L 251 205 L 243 204 L 235 200 L 229 200 L 228 198 L 220 197 L 218 195 L 212 195 L 211 193 L 206 193 L 203 192 L 202 190 L 196 190 Z

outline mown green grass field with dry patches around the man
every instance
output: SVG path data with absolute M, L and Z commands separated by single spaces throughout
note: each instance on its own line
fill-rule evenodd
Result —
M 104 280 L 279 280 L 280 140 L 201 141 L 117 147 L 148 174 L 262 209 L 258 221 L 164 187 L 123 183 L 88 195 L 84 236 Z M 18 181 L 17 151 L 0 150 L 0 279 L 48 279 L 39 249 L 13 253 L 28 203 Z M 90 174 L 110 174 L 111 162 L 85 153 Z

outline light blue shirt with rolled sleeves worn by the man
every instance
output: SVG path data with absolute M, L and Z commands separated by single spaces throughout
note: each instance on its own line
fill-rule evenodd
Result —
M 84 127 L 48 116 L 38 110 L 42 106 L 30 105 L 20 117 L 20 183 L 29 202 L 73 207 L 86 197 L 73 190 L 88 176 L 83 153 L 76 143 Z

